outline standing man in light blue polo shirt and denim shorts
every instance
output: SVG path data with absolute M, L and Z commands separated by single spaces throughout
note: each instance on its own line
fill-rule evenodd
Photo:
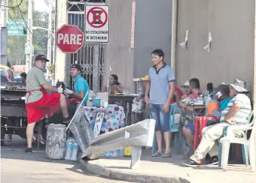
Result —
M 162 49 L 155 49 L 151 52 L 151 55 L 154 66 L 148 71 L 145 102 L 151 110 L 151 118 L 156 120 L 155 135 L 158 149 L 152 156 L 170 157 L 169 105 L 175 89 L 175 75 L 172 68 L 163 62 L 164 53 Z M 166 142 L 166 151 L 164 153 L 162 153 L 163 138 Z

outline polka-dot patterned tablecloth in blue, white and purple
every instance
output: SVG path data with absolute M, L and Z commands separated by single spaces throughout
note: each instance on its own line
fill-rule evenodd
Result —
M 105 113 L 102 121 L 101 133 L 117 130 L 124 127 L 125 113 L 123 107 L 108 106 L 105 108 L 84 107 L 84 114 L 86 115 L 90 124 L 94 127 L 97 113 Z

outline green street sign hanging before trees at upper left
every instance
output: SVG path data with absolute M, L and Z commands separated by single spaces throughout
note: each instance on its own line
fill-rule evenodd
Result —
M 23 33 L 23 27 L 26 28 L 26 24 L 28 23 L 28 20 L 8 20 L 8 26 L 7 26 L 7 32 L 9 35 L 19 35 L 19 36 L 25 36 Z

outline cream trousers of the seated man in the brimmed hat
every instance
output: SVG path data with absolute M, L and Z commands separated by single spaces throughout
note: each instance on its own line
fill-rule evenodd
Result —
M 207 153 L 209 153 L 211 157 L 218 155 L 217 139 L 223 136 L 224 127 L 229 125 L 230 124 L 227 123 L 220 123 L 204 127 L 202 130 L 202 140 L 190 159 L 200 163 L 200 161 L 206 157 Z

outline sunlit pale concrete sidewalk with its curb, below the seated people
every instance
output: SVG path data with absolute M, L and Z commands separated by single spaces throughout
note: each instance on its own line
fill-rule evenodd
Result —
M 138 169 L 129 169 L 130 157 L 101 157 L 99 160 L 80 160 L 87 171 L 105 177 L 133 182 L 193 182 L 193 183 L 255 183 L 256 173 L 250 166 L 229 165 L 227 172 L 214 166 L 187 167 L 183 157 L 151 157 L 151 150 L 142 151 Z

